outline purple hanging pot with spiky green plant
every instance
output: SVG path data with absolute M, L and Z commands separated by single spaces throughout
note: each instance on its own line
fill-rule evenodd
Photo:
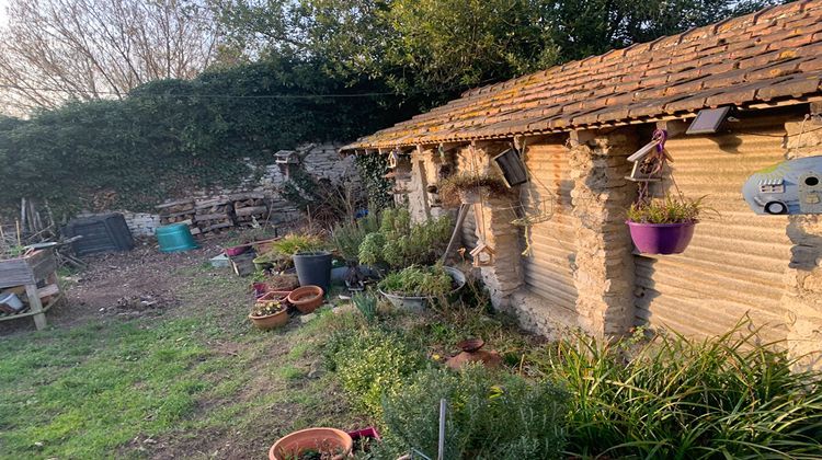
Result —
M 685 251 L 703 210 L 701 200 L 667 195 L 632 204 L 626 223 L 637 250 L 642 254 L 680 254 Z

